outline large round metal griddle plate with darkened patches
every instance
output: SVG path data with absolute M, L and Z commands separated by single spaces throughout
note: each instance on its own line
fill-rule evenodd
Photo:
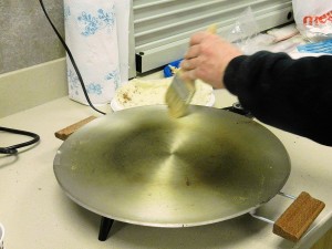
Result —
M 71 135 L 54 173 L 79 205 L 120 221 L 198 226 L 246 214 L 271 199 L 290 174 L 281 142 L 227 111 L 164 105 L 96 118 Z

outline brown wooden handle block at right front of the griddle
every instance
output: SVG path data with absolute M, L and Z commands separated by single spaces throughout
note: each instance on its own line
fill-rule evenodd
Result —
M 274 222 L 273 232 L 297 242 L 324 207 L 324 203 L 303 191 Z

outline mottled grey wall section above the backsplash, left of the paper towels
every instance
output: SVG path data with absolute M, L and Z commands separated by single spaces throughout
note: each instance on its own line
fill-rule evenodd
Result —
M 44 4 L 63 34 L 63 1 L 44 0 Z M 64 50 L 39 1 L 0 1 L 0 74 L 63 56 Z

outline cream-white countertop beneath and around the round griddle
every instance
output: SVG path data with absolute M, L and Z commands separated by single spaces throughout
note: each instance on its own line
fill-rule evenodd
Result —
M 236 102 L 226 91 L 216 93 L 216 106 Z M 62 141 L 54 132 L 93 115 L 90 107 L 62 97 L 0 120 L 0 126 L 35 132 L 41 142 L 17 156 L 0 155 L 0 222 L 6 227 L 7 249 L 290 249 L 310 248 L 332 227 L 332 148 L 299 136 L 272 131 L 284 144 L 292 170 L 283 191 L 302 190 L 326 204 L 299 243 L 272 234 L 272 226 L 249 215 L 190 228 L 152 228 L 115 221 L 110 238 L 97 240 L 100 216 L 68 198 L 53 174 L 53 158 Z M 0 146 L 22 137 L 0 133 Z M 290 200 L 274 197 L 259 209 L 276 219 Z M 218 207 L 216 207 L 218 208 Z

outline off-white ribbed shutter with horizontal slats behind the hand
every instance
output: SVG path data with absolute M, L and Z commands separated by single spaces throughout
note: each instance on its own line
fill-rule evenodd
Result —
M 260 31 L 291 21 L 291 0 L 133 0 L 136 70 L 141 73 L 178 60 L 190 34 L 217 23 L 230 29 L 250 7 Z

